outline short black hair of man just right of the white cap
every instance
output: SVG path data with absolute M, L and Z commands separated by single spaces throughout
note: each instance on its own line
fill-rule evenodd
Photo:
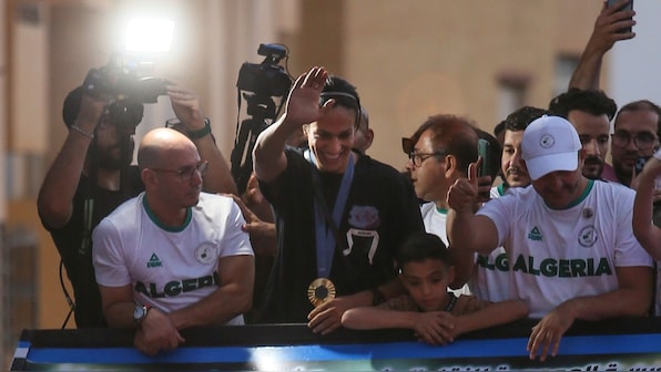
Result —
M 549 111 L 553 115 L 567 118 L 573 110 L 584 111 L 596 116 L 606 115 L 611 121 L 618 111 L 618 105 L 601 90 L 578 87 L 572 87 L 549 102 Z

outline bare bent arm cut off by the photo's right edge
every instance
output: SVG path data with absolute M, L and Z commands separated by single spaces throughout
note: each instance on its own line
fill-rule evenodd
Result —
M 645 163 L 642 172 L 634 178 L 633 235 L 640 245 L 655 260 L 661 259 L 661 228 L 652 225 L 652 208 L 655 202 L 657 178 L 661 177 L 661 149 L 658 149 Z M 638 185 L 635 185 L 638 184 Z

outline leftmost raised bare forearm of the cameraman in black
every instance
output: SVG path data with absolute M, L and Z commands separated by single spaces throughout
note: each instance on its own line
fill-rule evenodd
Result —
M 59 228 L 69 223 L 73 196 L 83 172 L 94 128 L 108 102 L 82 94 L 78 117 L 71 125 L 62 148 L 45 174 L 39 189 L 37 209 L 47 227 Z

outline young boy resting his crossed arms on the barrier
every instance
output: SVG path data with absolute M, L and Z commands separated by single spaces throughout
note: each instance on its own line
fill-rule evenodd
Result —
M 409 328 L 431 344 L 452 342 L 461 333 L 507 323 L 528 314 L 521 300 L 487 302 L 447 292 L 455 277 L 445 244 L 434 234 L 416 232 L 398 252 L 399 273 L 408 294 L 377 307 L 349 309 L 342 326 L 352 329 Z

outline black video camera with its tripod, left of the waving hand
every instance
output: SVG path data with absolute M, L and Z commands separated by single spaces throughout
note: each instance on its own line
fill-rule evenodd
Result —
M 232 176 L 240 193 L 245 190 L 253 172 L 252 153 L 257 135 L 275 121 L 292 87 L 289 73 L 278 64 L 282 59 L 288 58 L 286 46 L 260 44 L 257 54 L 264 55 L 264 61 L 243 63 L 236 81 L 240 97 L 246 101 L 246 113 L 251 116 L 241 122 L 241 125 L 236 123 L 236 137 L 230 158 Z M 277 107 L 273 97 L 281 99 Z M 238 102 L 241 111 L 241 100 Z

